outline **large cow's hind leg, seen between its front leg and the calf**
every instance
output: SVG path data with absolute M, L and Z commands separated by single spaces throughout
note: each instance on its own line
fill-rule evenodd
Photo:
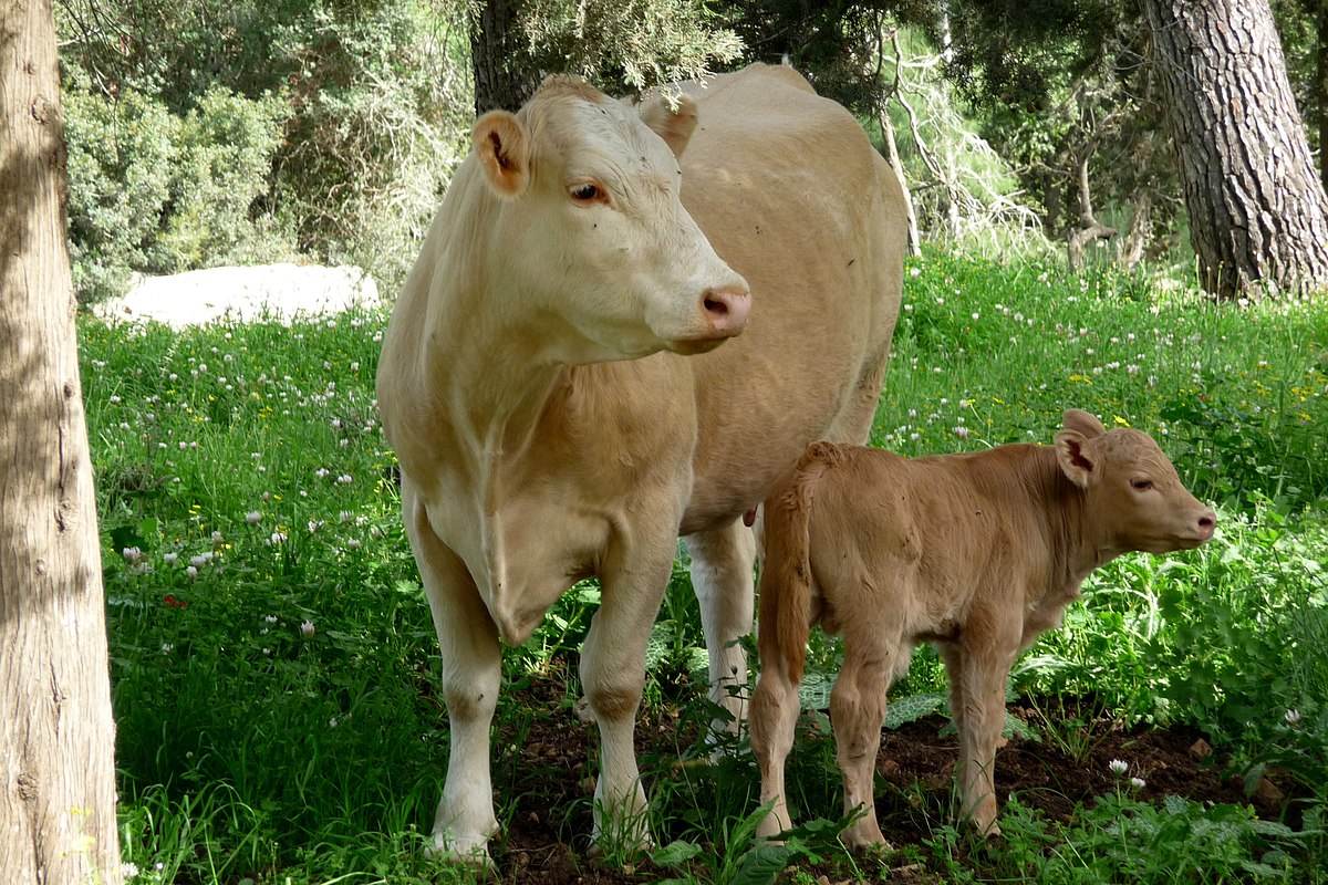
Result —
M 756 539 L 736 519 L 724 528 L 688 535 L 685 541 L 710 658 L 710 699 L 729 714 L 710 726 L 737 734 L 746 719 L 746 651 L 737 640 L 752 632 Z

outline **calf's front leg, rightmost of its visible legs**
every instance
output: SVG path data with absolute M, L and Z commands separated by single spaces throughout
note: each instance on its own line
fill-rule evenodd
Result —
M 1017 637 L 1009 642 L 1017 649 Z M 993 645 L 980 649 L 947 644 L 943 650 L 951 681 L 951 705 L 957 707 L 959 783 L 961 813 L 979 833 L 1000 836 L 996 825 L 996 747 L 1005 724 L 1005 683 L 1013 653 Z M 954 711 L 952 711 L 954 713 Z

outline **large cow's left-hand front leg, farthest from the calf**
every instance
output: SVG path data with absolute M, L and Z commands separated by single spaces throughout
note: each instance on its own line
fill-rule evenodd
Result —
M 489 728 L 502 678 L 502 646 L 465 564 L 412 513 L 402 486 L 406 528 L 429 598 L 442 651 L 442 694 L 448 702 L 448 779 L 433 821 L 434 851 L 491 866 L 489 839 L 498 832 L 489 768 Z

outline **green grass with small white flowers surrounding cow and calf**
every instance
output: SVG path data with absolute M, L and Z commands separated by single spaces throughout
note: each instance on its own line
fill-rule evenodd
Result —
M 926 801 L 911 812 L 926 836 L 883 857 L 847 854 L 825 821 L 784 851 L 757 848 L 750 751 L 709 766 L 696 743 L 704 653 L 679 568 L 641 728 L 663 848 L 592 862 L 588 797 L 534 796 L 586 881 L 761 882 L 785 864 L 781 881 L 809 884 L 1328 881 L 1328 305 L 1214 305 L 1135 277 L 940 255 L 910 265 L 904 301 L 874 444 L 1050 442 L 1077 406 L 1153 433 L 1219 512 L 1199 551 L 1098 572 L 1065 629 L 1017 665 L 1016 697 L 1090 709 L 1094 722 L 1199 728 L 1235 776 L 1276 770 L 1295 785 L 1284 820 L 1118 788 L 1069 823 L 1016 796 L 989 848 Z M 384 325 L 81 322 L 133 882 L 470 880 L 421 851 L 448 732 L 373 405 Z M 539 783 L 522 746 L 575 726 L 570 662 L 595 602 L 594 586 L 576 588 L 507 651 L 494 763 L 505 824 Z M 814 640 L 810 707 L 835 655 Z M 896 720 L 936 709 L 943 685 L 919 651 L 891 693 Z M 1044 731 L 1048 744 L 1085 734 Z M 833 813 L 833 755 L 805 758 L 798 779 L 801 800 Z M 525 881 L 494 848 L 502 874 Z

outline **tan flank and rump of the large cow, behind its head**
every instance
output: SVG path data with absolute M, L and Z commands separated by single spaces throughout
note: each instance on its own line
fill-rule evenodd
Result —
M 899 312 L 899 180 L 791 68 L 692 90 L 683 202 L 752 287 L 746 332 L 693 357 L 700 413 L 684 532 L 756 506 L 815 439 L 865 442 Z

